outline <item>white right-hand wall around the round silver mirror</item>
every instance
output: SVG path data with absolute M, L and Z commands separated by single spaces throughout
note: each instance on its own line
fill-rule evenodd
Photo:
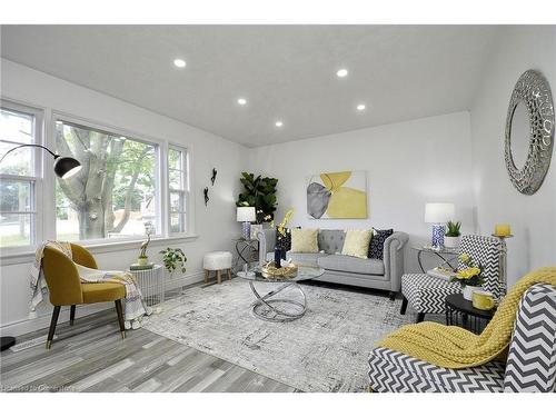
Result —
M 508 284 L 533 268 L 556 264 L 556 158 L 542 188 L 519 193 L 504 161 L 504 129 L 509 98 L 519 76 L 540 70 L 556 91 L 556 29 L 508 27 L 485 68 L 471 107 L 474 190 L 478 230 L 488 235 L 496 222 L 512 225 Z M 554 152 L 553 152 L 554 153 Z

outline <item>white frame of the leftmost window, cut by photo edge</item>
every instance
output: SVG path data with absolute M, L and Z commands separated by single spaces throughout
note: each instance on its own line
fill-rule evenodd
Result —
M 44 110 L 34 106 L 30 106 L 27 103 L 19 102 L 18 100 L 12 100 L 8 98 L 0 98 L 0 108 L 6 109 L 8 111 L 13 111 L 17 113 L 29 115 L 33 117 L 33 141 L 32 145 L 44 146 Z M 23 145 L 20 142 L 12 142 L 13 146 Z M 29 143 L 29 145 L 31 145 Z M 43 236 L 43 216 L 38 210 L 39 205 L 43 198 L 43 166 L 46 163 L 44 158 L 52 158 L 52 156 L 41 148 L 31 148 L 32 149 L 32 168 L 33 175 L 31 176 L 17 176 L 17 175 L 8 175 L 0 173 L 0 178 L 3 180 L 16 180 L 22 182 L 30 183 L 30 202 L 31 209 L 29 211 L 18 211 L 13 214 L 21 215 L 30 215 L 30 245 L 21 245 L 21 246 L 8 246 L 0 248 L 2 257 L 9 256 L 12 254 L 19 254 L 21 251 L 32 250 L 37 244 L 41 240 Z M 53 162 L 53 160 L 52 160 Z

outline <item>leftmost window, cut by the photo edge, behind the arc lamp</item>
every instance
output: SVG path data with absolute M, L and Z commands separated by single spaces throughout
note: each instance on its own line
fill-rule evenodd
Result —
M 42 113 L 2 101 L 0 158 L 20 145 L 42 142 Z M 37 148 L 21 148 L 0 163 L 0 247 L 30 246 L 37 241 L 37 191 L 40 158 Z

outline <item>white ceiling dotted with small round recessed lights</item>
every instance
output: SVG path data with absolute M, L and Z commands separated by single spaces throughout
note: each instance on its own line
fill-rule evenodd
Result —
M 496 34 L 478 26 L 3 26 L 1 54 L 255 147 L 467 110 Z M 339 68 L 348 77 L 337 78 Z

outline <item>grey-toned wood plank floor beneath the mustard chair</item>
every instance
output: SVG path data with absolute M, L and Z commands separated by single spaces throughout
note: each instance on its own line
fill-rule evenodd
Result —
M 46 336 L 47 329 L 18 337 Z M 115 310 L 59 325 L 44 345 L 0 356 L 2 391 L 291 393 L 295 388 L 145 329 L 121 339 Z

